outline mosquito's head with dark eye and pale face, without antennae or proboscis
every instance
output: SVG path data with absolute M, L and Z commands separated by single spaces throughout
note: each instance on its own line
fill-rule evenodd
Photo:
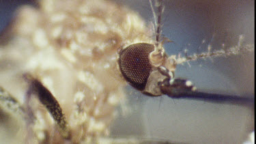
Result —
M 160 96 L 162 92 L 158 83 L 165 78 L 172 78 L 162 73 L 164 66 L 154 66 L 150 62 L 150 54 L 156 50 L 154 44 L 137 43 L 126 46 L 119 51 L 118 65 L 122 76 L 132 87 L 150 96 Z M 163 55 L 163 57 L 167 55 Z M 168 59 L 168 57 L 166 58 Z M 165 68 L 167 73 L 169 70 Z

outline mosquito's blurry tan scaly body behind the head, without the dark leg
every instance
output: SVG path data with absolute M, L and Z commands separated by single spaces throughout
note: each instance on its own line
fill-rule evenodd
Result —
M 1 63 L 7 57 L 6 63 L 12 61 L 1 68 L 1 76 L 15 78 L 3 78 L 0 85 L 23 105 L 28 87 L 22 74 L 36 76 L 59 101 L 71 139 L 61 138 L 51 116 L 34 100 L 33 113 L 38 120 L 32 126 L 33 134 L 23 141 L 79 143 L 108 134 L 126 85 L 117 69 L 117 49 L 150 42 L 150 33 L 138 14 L 110 1 L 39 3 L 39 9 L 24 6 L 17 12 L 9 42 L 0 50 Z M 13 91 L 13 87 L 18 88 Z

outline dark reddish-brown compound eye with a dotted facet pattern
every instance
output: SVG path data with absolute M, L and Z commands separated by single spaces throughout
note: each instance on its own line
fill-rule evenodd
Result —
M 127 46 L 119 53 L 119 68 L 132 87 L 143 90 L 152 66 L 149 55 L 154 44 L 138 43 Z

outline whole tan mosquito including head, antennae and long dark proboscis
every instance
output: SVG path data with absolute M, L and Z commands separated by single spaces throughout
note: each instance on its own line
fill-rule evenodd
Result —
M 55 8 L 53 3 L 58 6 Z M 162 13 L 164 12 L 162 0 L 154 3 L 150 1 L 155 20 L 154 40 L 150 40 L 143 34 L 144 27 L 141 26 L 142 22 L 136 14 L 127 11 L 130 13 L 121 17 L 122 14 L 126 14 L 126 10 L 123 11 L 122 8 L 109 2 L 100 1 L 98 2 L 100 6 L 91 1 L 77 0 L 65 1 L 65 3 L 69 3 L 70 7 L 63 5 L 63 10 L 61 9 L 62 1 L 42 1 L 40 4 L 43 12 L 27 8 L 21 11 L 23 13 L 17 20 L 19 23 L 13 28 L 14 33 L 18 33 L 17 35 L 25 39 L 16 39 L 14 44 L 21 40 L 25 43 L 24 46 L 31 46 L 33 49 L 28 52 L 29 59 L 24 60 L 27 63 L 26 68 L 18 71 L 22 79 L 20 81 L 25 81 L 23 85 L 27 85 L 27 88 L 25 88 L 23 104 L 19 104 L 3 89 L 1 100 L 10 109 L 14 109 L 12 106 L 17 105 L 16 109 L 26 121 L 27 141 L 34 140 L 36 137 L 39 143 L 46 141 L 48 143 L 55 141 L 79 143 L 85 139 L 91 142 L 102 133 L 107 135 L 109 131 L 106 127 L 110 124 L 113 107 L 124 94 L 119 86 L 126 83 L 145 96 L 167 95 L 170 98 L 201 99 L 234 104 L 253 103 L 252 98 L 197 91 L 191 81 L 175 77 L 178 64 L 207 57 L 237 55 L 240 51 L 253 51 L 253 46 L 238 46 L 235 51 L 233 49 L 208 51 L 198 55 L 186 55 L 186 57 L 169 56 L 163 47 L 163 44 L 170 40 L 162 37 Z M 91 5 L 91 8 L 87 8 L 87 5 Z M 110 17 L 106 20 L 104 16 L 107 15 L 103 11 L 106 6 L 103 5 L 109 5 L 113 9 L 108 11 Z M 26 14 L 32 15 L 27 17 Z M 111 17 L 111 14 L 116 16 Z M 118 16 L 120 18 L 115 20 Z M 44 23 L 40 18 L 48 23 Z M 127 21 L 126 18 L 128 18 Z M 125 23 L 119 22 L 122 20 Z M 26 30 L 23 27 L 27 25 L 23 22 L 30 22 L 31 29 L 34 31 L 23 31 Z M 113 23 L 118 23 L 118 27 Z M 132 33 L 134 31 L 137 33 Z M 81 48 L 83 46 L 86 48 Z M 70 74 L 70 77 L 61 76 L 63 71 Z M 70 100 L 61 97 L 63 93 L 60 91 L 56 92 L 58 91 L 56 83 L 63 78 L 67 81 L 69 79 L 70 84 L 74 85 L 74 87 L 71 85 L 72 90 L 68 92 L 71 96 L 67 98 Z M 61 85 L 59 86 L 61 90 L 65 87 L 61 83 L 58 85 Z M 66 87 L 66 89 L 69 88 Z M 46 110 L 42 110 L 42 107 Z M 55 124 L 48 120 L 46 111 L 53 117 L 57 129 Z M 42 128 L 44 123 L 48 124 L 48 128 L 47 126 Z M 38 128 L 38 125 L 41 127 Z

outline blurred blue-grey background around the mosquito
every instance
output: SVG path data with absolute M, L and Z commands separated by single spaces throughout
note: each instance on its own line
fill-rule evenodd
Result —
M 149 1 L 115 0 L 138 12 L 147 24 L 154 22 Z M 8 25 L 18 5 L 33 1 L 1 1 L 0 31 Z M 165 1 L 162 34 L 169 55 L 188 55 L 236 46 L 240 35 L 254 44 L 255 1 Z M 202 44 L 202 42 L 204 42 Z M 176 77 L 188 78 L 201 91 L 234 96 L 255 96 L 254 52 L 205 59 L 177 66 Z M 114 137 L 161 139 L 180 143 L 242 143 L 254 128 L 254 111 L 246 106 L 197 100 L 149 98 L 126 89 L 127 103 L 111 126 Z

